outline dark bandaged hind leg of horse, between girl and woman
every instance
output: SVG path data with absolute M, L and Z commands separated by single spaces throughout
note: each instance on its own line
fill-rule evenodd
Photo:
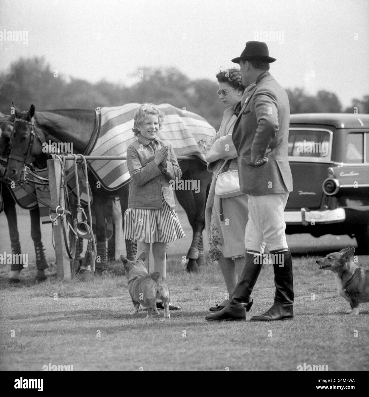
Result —
M 195 190 L 176 190 L 178 201 L 185 209 L 189 224 L 193 230 L 191 247 L 187 252 L 188 264 L 187 272 L 198 271 L 199 266 L 205 264 L 205 254 L 203 248 L 203 230 L 205 228 L 205 203 L 209 193 L 209 186 L 212 174 L 207 171 L 205 164 L 200 160 L 181 161 L 182 180 L 197 181 L 200 189 Z

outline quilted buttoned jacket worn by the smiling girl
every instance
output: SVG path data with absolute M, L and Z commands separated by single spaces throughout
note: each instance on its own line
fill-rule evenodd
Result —
M 167 145 L 166 168 L 155 164 L 155 151 Z M 182 171 L 170 143 L 155 138 L 153 141 L 139 135 L 137 141 L 127 148 L 129 182 L 128 208 L 158 210 L 163 200 L 172 210 L 175 207 L 174 193 L 170 180 L 179 179 Z

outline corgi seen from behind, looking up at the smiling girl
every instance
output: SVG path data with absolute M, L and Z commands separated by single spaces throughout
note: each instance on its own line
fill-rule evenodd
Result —
M 165 278 L 160 273 L 147 273 L 145 268 L 146 253 L 135 260 L 128 260 L 124 255 L 120 256 L 128 278 L 128 292 L 131 295 L 135 309 L 130 314 L 137 314 L 140 304 L 147 306 L 147 319 L 153 318 L 153 311 L 160 317 L 156 302 L 163 302 L 164 318 L 170 318 L 169 300 L 170 292 Z

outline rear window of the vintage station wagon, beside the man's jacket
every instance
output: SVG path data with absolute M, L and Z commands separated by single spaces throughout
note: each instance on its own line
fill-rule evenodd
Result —
M 288 156 L 325 158 L 329 154 L 329 137 L 327 131 L 291 129 Z

